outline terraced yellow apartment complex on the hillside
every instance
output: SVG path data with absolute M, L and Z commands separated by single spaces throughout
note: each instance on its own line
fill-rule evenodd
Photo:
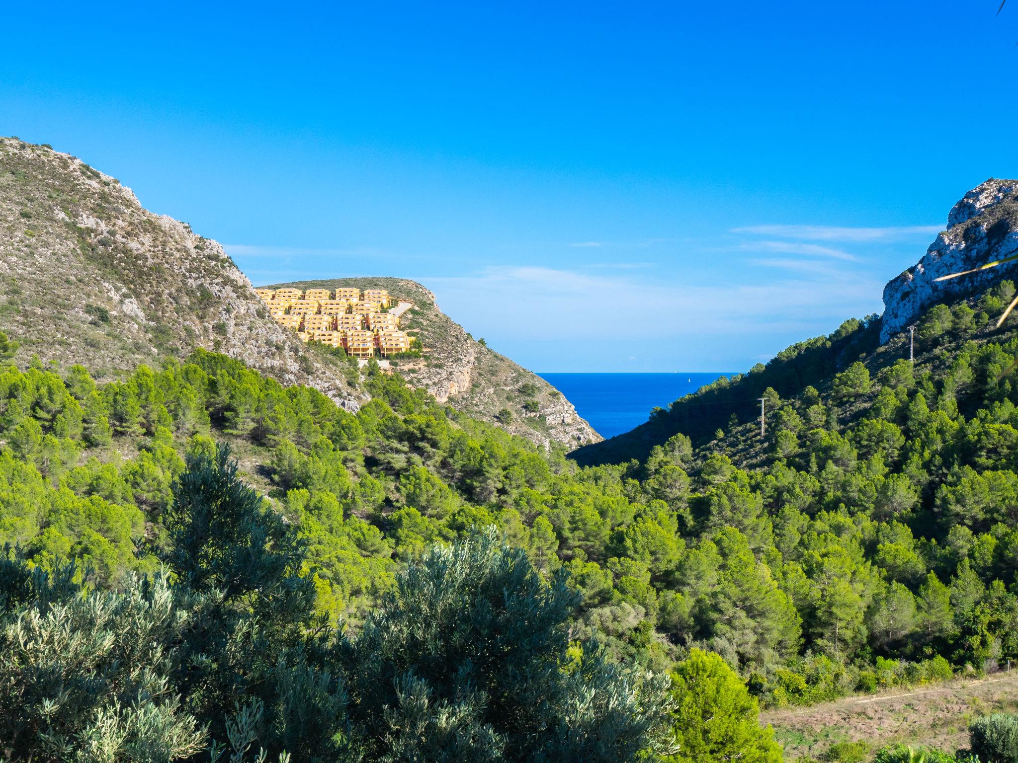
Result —
M 256 289 L 269 314 L 304 342 L 342 347 L 358 360 L 409 352 L 410 336 L 399 329 L 399 315 L 409 303 L 393 311 L 385 289 Z M 404 307 L 405 305 L 405 307 Z

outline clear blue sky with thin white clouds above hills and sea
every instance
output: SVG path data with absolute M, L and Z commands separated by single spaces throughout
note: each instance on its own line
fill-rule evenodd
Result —
M 215 6 L 215 7 L 213 7 Z M 1018 175 L 1018 5 L 29 4 L 0 133 L 256 284 L 416 279 L 539 371 L 737 370 Z

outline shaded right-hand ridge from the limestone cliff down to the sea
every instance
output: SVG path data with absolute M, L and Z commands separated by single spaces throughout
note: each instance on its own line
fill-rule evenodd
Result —
M 809 386 L 823 393 L 837 371 L 860 358 L 875 374 L 902 357 L 902 352 L 907 357 L 908 326 L 939 302 L 958 303 L 1001 279 L 1014 277 L 1018 262 L 948 281 L 936 279 L 1011 256 L 1016 248 L 1018 181 L 987 180 L 952 208 L 948 229 L 938 235 L 925 256 L 888 283 L 881 317 L 846 320 L 828 337 L 792 345 L 766 365 L 757 364 L 748 373 L 724 377 L 686 395 L 631 431 L 578 449 L 572 457 L 580 464 L 619 464 L 645 459 L 655 446 L 679 432 L 696 445 L 706 446 L 718 429 L 729 434 L 740 426 L 755 431 L 759 426 L 758 399 L 765 390 L 772 388 L 783 398 L 798 395 Z M 983 327 L 976 338 L 986 339 L 992 334 Z

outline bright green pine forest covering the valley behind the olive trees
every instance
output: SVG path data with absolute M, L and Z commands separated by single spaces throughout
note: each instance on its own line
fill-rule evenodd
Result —
M 343 624 L 350 643 L 414 661 L 373 679 L 397 692 L 378 699 L 377 708 L 417 708 L 416 719 L 400 720 L 401 728 L 416 724 L 429 729 L 429 739 L 459 740 L 453 729 L 462 727 L 478 745 L 495 745 L 494 731 L 477 720 L 491 697 L 470 694 L 482 691 L 475 682 L 457 684 L 455 674 L 423 656 L 416 662 L 416 651 L 431 647 L 413 640 L 422 637 L 406 620 L 434 614 L 416 600 L 435 587 L 421 571 L 446 569 L 451 563 L 444 554 L 462 552 L 450 547 L 462 549 L 476 542 L 468 539 L 478 528 L 495 526 L 508 546 L 520 549 L 505 559 L 531 571 L 516 583 L 531 598 L 551 596 L 546 603 L 557 612 L 559 625 L 549 627 L 558 634 L 555 648 L 566 651 L 543 657 L 564 682 L 555 691 L 580 691 L 587 669 L 605 677 L 672 671 L 676 687 L 694 682 L 698 670 L 713 677 L 719 696 L 718 686 L 748 690 L 724 700 L 737 726 L 739 718 L 755 716 L 757 701 L 809 703 L 992 670 L 1018 658 L 1018 391 L 1013 376 L 1000 375 L 1018 355 L 1018 339 L 1007 327 L 984 329 L 986 312 L 1007 300 L 1009 290 L 1005 282 L 978 300 L 928 311 L 914 367 L 886 350 L 865 352 L 874 329 L 855 321 L 702 393 L 715 395 L 727 385 L 734 399 L 747 394 L 741 390 L 746 379 L 754 386 L 783 379 L 780 391 L 759 390 L 773 411 L 762 443 L 753 439 L 750 422 L 736 420 L 696 447 L 675 434 L 642 462 L 620 465 L 579 467 L 561 451 L 545 452 L 440 406 L 374 365 L 364 374 L 374 400 L 353 414 L 314 390 L 283 388 L 204 351 L 98 386 L 80 366 L 58 372 L 39 361 L 18 369 L 0 360 L 0 541 L 16 548 L 8 565 L 20 571 L 5 575 L 27 581 L 17 583 L 20 593 L 5 594 L 13 602 L 4 604 L 6 622 L 13 622 L 11 612 L 17 623 L 57 617 L 55 597 L 66 607 L 59 617 L 68 621 L 163 607 L 161 625 L 153 628 L 169 630 L 146 643 L 170 639 L 182 650 L 177 654 L 190 655 L 196 666 L 186 681 L 196 683 L 180 683 L 184 679 L 172 673 L 179 668 L 160 661 L 177 657 L 158 649 L 144 658 L 151 676 L 110 680 L 121 703 L 139 692 L 161 697 L 152 712 L 163 713 L 158 723 L 167 733 L 176 729 L 181 745 L 206 723 L 220 742 L 229 729 L 243 736 L 237 730 L 243 723 L 279 727 L 269 718 L 290 700 L 277 697 L 273 705 L 259 696 L 256 706 L 237 699 L 247 697 L 246 690 L 230 683 L 239 680 L 239 668 L 229 660 L 250 652 L 231 645 L 235 633 L 272 642 L 266 655 L 312 654 L 326 649 L 315 634 L 345 643 L 333 630 Z M 9 343 L 0 342 L 0 353 L 10 355 Z M 795 378 L 810 384 L 796 387 Z M 252 498 L 234 484 L 222 509 L 197 522 L 193 507 L 205 492 L 185 462 L 205 463 L 210 471 L 217 441 L 232 445 L 240 477 L 267 497 Z M 217 468 L 229 471 L 225 463 Z M 218 488 L 230 483 L 223 479 Z M 245 525 L 244 516 L 259 521 Z M 287 544 L 300 552 L 289 553 Z M 246 570 L 256 551 L 272 551 L 277 567 Z M 72 577 L 68 562 L 75 566 Z M 407 569 L 416 572 L 401 573 Z M 172 585 L 161 577 L 166 574 Z M 258 580 L 244 583 L 245 575 Z M 489 595 L 480 579 L 464 578 L 462 585 L 466 598 L 449 604 L 458 611 L 471 610 L 472 597 Z M 278 586 L 279 595 L 253 593 Z M 476 606 L 476 618 L 492 617 L 487 605 Z M 235 622 L 218 613 L 224 607 Z M 118 614 L 121 609 L 126 613 Z M 279 631 L 248 634 L 245 619 L 254 615 Z M 217 644 L 222 657 L 207 664 L 187 642 L 192 637 L 180 635 L 178 621 L 205 629 L 201 638 Z M 235 630 L 201 625 L 212 621 Z M 467 638 L 457 635 L 453 620 L 449 628 L 434 638 L 450 644 Z M 123 659 L 103 656 L 113 646 L 78 646 L 91 650 L 91 659 Z M 335 648 L 330 642 L 328 649 Z M 720 659 L 700 664 L 705 652 Z M 441 654 L 466 659 L 463 652 Z M 333 671 L 334 659 L 322 657 L 315 669 L 328 672 L 329 681 L 351 674 Z M 395 677 L 407 670 L 413 680 L 400 684 Z M 260 686 L 267 676 L 258 679 Z M 152 689 L 164 681 L 175 689 Z M 293 681 L 272 678 L 279 686 Z M 321 702 L 348 707 L 355 687 L 344 683 L 340 691 L 323 681 L 316 690 Z M 174 692 L 184 698 L 182 725 L 170 719 L 176 717 Z M 631 702 L 640 696 L 634 690 Z M 450 703 L 441 717 L 452 725 L 428 725 L 437 721 L 422 708 L 435 702 Z M 706 706 L 685 702 L 681 692 L 673 704 L 673 726 L 676 713 Z M 384 712 L 375 715 L 383 722 Z M 106 715 L 89 722 L 100 720 L 120 722 Z M 582 727 L 587 720 L 562 722 Z M 32 723 L 38 730 L 39 721 Z M 708 748 L 717 740 L 675 728 L 680 752 L 674 760 L 686 759 L 683 745 L 710 759 Z M 660 742 L 659 731 L 648 728 L 641 744 Z M 259 735 L 260 744 L 269 739 Z M 516 745 L 507 730 L 498 739 Z M 264 744 L 297 755 L 283 737 Z M 770 738 L 753 744 L 759 760 L 771 759 Z M 495 750 L 491 745 L 485 749 Z

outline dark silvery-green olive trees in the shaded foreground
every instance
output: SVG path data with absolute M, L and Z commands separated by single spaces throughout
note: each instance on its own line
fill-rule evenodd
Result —
M 571 641 L 565 574 L 544 580 L 494 528 L 425 552 L 352 639 L 315 617 L 299 536 L 226 447 L 191 457 L 166 533 L 163 568 L 115 591 L 0 557 L 6 759 L 608 763 L 674 749 L 668 677 Z

